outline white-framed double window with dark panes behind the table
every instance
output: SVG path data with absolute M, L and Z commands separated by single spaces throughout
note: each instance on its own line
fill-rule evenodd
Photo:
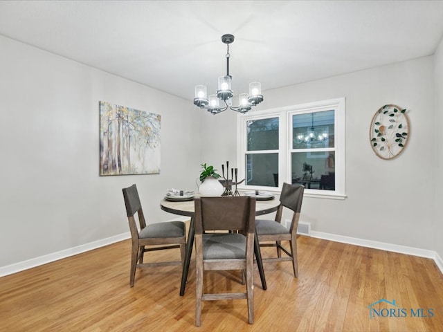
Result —
M 345 98 L 246 113 L 237 128 L 245 189 L 300 183 L 307 196 L 345 197 Z

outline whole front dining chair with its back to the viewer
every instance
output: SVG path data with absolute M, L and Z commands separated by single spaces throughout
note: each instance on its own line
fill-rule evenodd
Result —
M 195 198 L 196 304 L 195 325 L 201 324 L 203 300 L 246 299 L 253 324 L 255 197 Z M 203 293 L 205 270 L 242 270 L 244 293 Z

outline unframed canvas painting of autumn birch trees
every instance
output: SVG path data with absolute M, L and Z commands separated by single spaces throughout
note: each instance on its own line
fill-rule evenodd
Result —
M 100 176 L 160 173 L 159 114 L 100 101 Z

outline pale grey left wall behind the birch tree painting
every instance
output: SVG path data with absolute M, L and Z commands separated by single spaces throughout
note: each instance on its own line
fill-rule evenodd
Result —
M 161 174 L 99 176 L 99 100 L 161 115 Z M 0 268 L 127 233 L 132 183 L 149 221 L 174 218 L 166 189 L 195 188 L 188 100 L 0 36 L 0 103 Z

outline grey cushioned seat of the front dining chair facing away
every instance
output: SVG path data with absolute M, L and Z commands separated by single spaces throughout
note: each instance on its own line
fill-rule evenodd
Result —
M 237 259 L 246 257 L 246 237 L 242 234 L 203 234 L 204 259 Z

